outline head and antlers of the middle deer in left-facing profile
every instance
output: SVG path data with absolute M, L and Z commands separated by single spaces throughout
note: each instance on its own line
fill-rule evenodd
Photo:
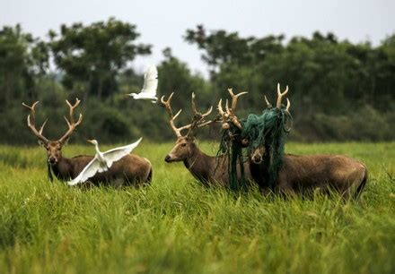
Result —
M 209 107 L 206 113 L 201 114 L 198 112 L 198 109 L 196 107 L 195 103 L 195 93 L 192 93 L 192 98 L 191 98 L 191 107 L 192 107 L 192 112 L 193 112 L 193 118 L 191 124 L 186 124 L 181 127 L 176 127 L 174 124 L 174 120 L 177 118 L 177 116 L 180 115 L 182 109 L 179 110 L 179 112 L 176 115 L 173 115 L 172 109 L 171 109 L 171 98 L 173 96 L 174 92 L 171 93 L 170 97 L 166 100 L 164 100 L 164 96 L 161 98 L 162 102 L 162 107 L 165 107 L 166 111 L 168 112 L 170 116 L 170 125 L 171 129 L 177 136 L 177 141 L 175 142 L 174 147 L 171 149 L 170 153 L 166 155 L 164 160 L 168 163 L 170 162 L 175 162 L 175 161 L 183 161 L 186 158 L 188 158 L 192 151 L 196 149 L 196 144 L 195 144 L 195 131 L 199 127 L 206 126 L 207 124 L 211 124 L 212 121 L 206 121 L 205 118 L 208 116 L 211 111 L 213 110 L 213 107 Z M 185 135 L 182 135 L 182 131 L 188 130 L 188 132 Z

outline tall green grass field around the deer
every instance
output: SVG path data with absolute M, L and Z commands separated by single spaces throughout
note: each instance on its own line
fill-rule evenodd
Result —
M 207 189 L 181 163 L 164 163 L 171 147 L 136 150 L 153 162 L 151 186 L 83 191 L 48 184 L 43 149 L 0 146 L 0 272 L 395 272 L 395 143 L 287 145 L 363 160 L 370 181 L 347 202 Z

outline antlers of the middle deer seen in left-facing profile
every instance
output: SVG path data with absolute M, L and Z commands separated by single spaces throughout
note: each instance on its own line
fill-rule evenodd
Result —
M 206 116 L 208 116 L 211 113 L 211 111 L 213 110 L 213 107 L 209 107 L 208 110 L 206 111 L 206 113 L 204 113 L 204 114 L 199 113 L 197 110 L 197 107 L 196 107 L 196 103 L 195 103 L 195 93 L 192 93 L 191 105 L 192 105 L 192 112 L 194 114 L 192 123 L 186 124 L 181 127 L 176 127 L 174 124 L 174 120 L 175 120 L 175 118 L 177 118 L 177 116 L 180 115 L 182 109 L 180 109 L 179 112 L 175 116 L 173 115 L 173 112 L 171 109 L 171 98 L 172 98 L 173 94 L 174 94 L 174 92 L 171 93 L 171 95 L 169 96 L 169 98 L 167 100 L 164 100 L 164 96 L 162 96 L 161 103 L 162 103 L 162 107 L 166 108 L 166 110 L 170 116 L 171 129 L 173 130 L 174 133 L 176 133 L 177 137 L 182 136 L 181 131 L 183 131 L 183 130 L 189 129 L 189 132 L 187 133 L 187 135 L 189 135 L 189 133 L 191 133 L 191 131 L 193 129 L 212 123 L 212 121 L 205 121 L 204 119 Z

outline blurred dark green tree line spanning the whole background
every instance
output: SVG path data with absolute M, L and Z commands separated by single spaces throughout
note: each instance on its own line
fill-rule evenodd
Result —
M 75 23 L 48 30 L 48 39 L 33 37 L 20 25 L 0 30 L 0 141 L 34 141 L 26 128 L 22 101 L 40 100 L 37 120 L 49 118 L 44 134 L 57 139 L 66 129 L 65 99 L 82 99 L 83 124 L 75 141 L 130 141 L 145 136 L 171 140 L 165 111 L 125 94 L 141 89 L 143 75 L 133 69 L 136 56 L 153 46 L 138 43 L 137 27 L 110 18 L 90 25 Z M 171 48 L 158 65 L 160 95 L 176 94 L 174 108 L 183 108 L 180 124 L 189 123 L 190 94 L 198 107 L 216 106 L 227 89 L 248 90 L 239 116 L 259 114 L 263 96 L 276 98 L 276 83 L 289 85 L 295 141 L 388 141 L 395 131 L 395 35 L 378 46 L 339 40 L 333 33 L 311 38 L 266 36 L 243 38 L 237 32 L 186 30 L 183 39 L 196 47 L 209 78 L 191 73 Z M 200 133 L 216 138 L 218 128 Z

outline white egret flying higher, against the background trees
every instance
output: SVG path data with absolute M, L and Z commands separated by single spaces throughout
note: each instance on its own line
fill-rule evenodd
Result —
M 158 70 L 156 66 L 151 65 L 144 75 L 144 86 L 140 93 L 129 93 L 127 94 L 134 99 L 151 100 L 156 103 L 158 98 L 156 97 L 156 89 L 158 88 Z

